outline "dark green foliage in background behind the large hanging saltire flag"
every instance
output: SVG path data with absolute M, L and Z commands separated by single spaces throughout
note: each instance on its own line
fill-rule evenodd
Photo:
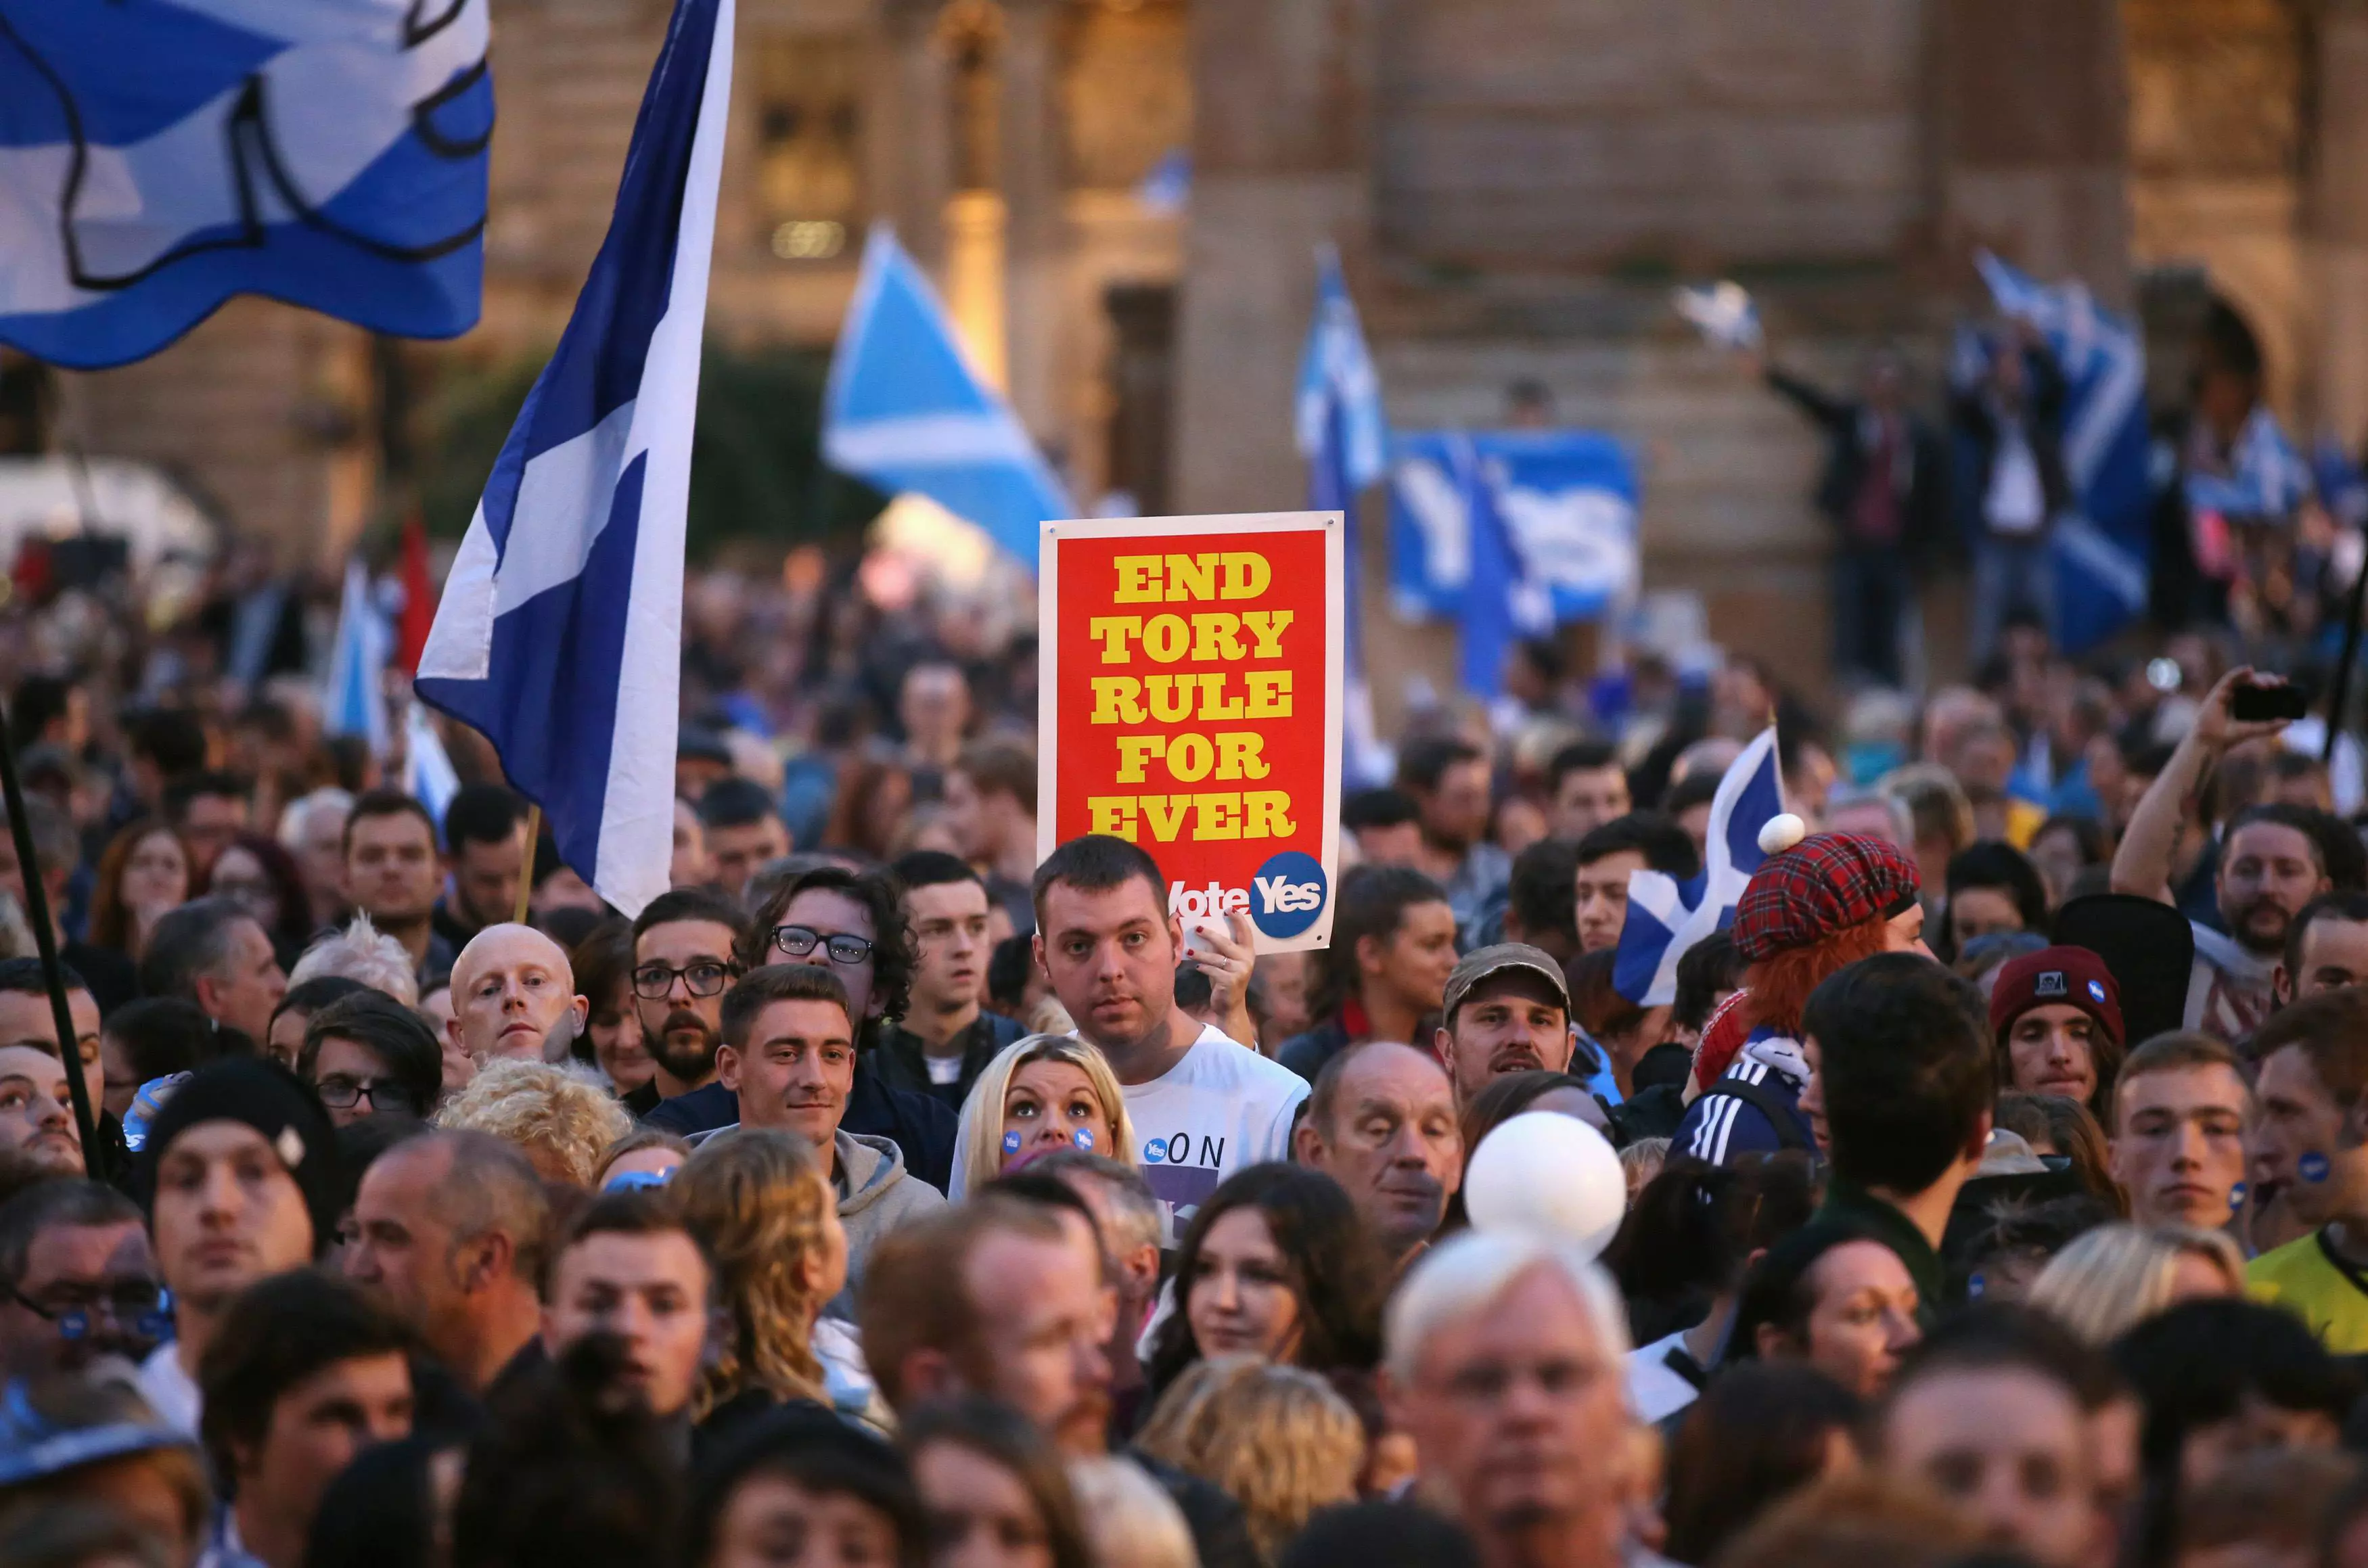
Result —
M 419 410 L 419 505 L 429 533 L 459 538 L 493 460 L 516 424 L 545 355 L 448 365 Z M 888 505 L 879 490 L 822 464 L 822 384 L 829 355 L 810 348 L 734 353 L 706 346 L 691 438 L 689 554 L 734 542 L 767 550 L 857 538 Z

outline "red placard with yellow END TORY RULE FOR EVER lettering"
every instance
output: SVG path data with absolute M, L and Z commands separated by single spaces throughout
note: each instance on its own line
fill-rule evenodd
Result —
M 1260 952 L 1331 938 L 1340 850 L 1338 512 L 1044 523 L 1037 855 L 1077 834 L 1160 862 L 1186 921 Z

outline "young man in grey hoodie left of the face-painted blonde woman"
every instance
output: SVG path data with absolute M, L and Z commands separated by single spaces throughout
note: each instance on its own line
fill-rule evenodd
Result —
M 879 1239 L 914 1215 L 945 1208 L 935 1187 L 905 1170 L 886 1137 L 843 1132 L 855 1087 L 848 988 L 817 964 L 751 969 L 725 992 L 715 1080 L 739 1097 L 739 1127 L 779 1127 L 815 1146 L 838 1191 L 848 1232 L 848 1289 L 826 1312 L 855 1315 L 855 1291 Z M 725 1137 L 729 1127 L 713 1137 Z

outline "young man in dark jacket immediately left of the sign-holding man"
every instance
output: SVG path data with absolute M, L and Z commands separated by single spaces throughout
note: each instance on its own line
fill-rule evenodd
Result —
M 912 997 L 883 1021 L 871 1068 L 890 1090 L 935 1094 L 954 1111 L 995 1052 L 1025 1030 L 980 1007 L 987 988 L 987 883 L 959 855 L 914 850 L 888 865 L 912 931 Z

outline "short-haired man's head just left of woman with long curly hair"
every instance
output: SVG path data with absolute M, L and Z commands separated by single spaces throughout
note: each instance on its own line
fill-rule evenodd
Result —
M 592 1201 L 552 1251 L 542 1352 L 609 1334 L 623 1348 L 623 1383 L 661 1421 L 687 1419 L 706 1374 L 715 1265 L 658 1191 Z

